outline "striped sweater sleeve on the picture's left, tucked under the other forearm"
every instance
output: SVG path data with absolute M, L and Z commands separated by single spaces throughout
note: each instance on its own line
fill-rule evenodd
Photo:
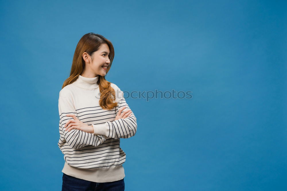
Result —
M 65 131 L 65 124 L 73 118 L 66 116 L 67 114 L 74 114 L 77 117 L 77 112 L 74 108 L 73 102 L 66 97 L 59 96 L 59 131 L 60 137 L 64 138 L 68 145 L 74 149 L 79 149 L 88 145 L 98 146 L 102 144 L 106 139 L 102 135 L 96 135 L 94 133 L 87 133 L 78 129 L 71 129 L 69 132 Z M 64 137 L 63 137 L 64 136 Z

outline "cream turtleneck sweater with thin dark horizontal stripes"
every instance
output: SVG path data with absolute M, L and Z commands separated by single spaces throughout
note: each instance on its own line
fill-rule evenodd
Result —
M 111 83 L 115 90 L 118 106 L 104 110 L 99 105 L 100 91 L 98 76 L 86 78 L 81 75 L 59 93 L 59 133 L 58 146 L 64 154 L 62 172 L 92 182 L 113 182 L 125 177 L 123 163 L 126 154 L 120 147 L 120 138 L 130 138 L 137 131 L 137 119 L 133 112 L 130 117 L 115 120 L 119 108 L 130 109 L 123 91 Z M 77 118 L 91 125 L 94 133 L 78 129 L 65 131 L 65 124 Z

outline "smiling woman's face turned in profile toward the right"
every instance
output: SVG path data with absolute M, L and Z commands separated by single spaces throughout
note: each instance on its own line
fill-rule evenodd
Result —
M 106 67 L 110 64 L 109 59 L 110 50 L 107 44 L 102 44 L 98 51 L 92 54 L 92 60 L 90 63 L 86 63 L 86 66 L 90 71 L 96 75 L 105 76 Z

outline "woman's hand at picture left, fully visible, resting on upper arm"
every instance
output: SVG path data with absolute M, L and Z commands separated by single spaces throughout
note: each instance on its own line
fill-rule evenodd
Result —
M 88 133 L 94 133 L 94 128 L 92 125 L 87 125 L 85 123 L 83 123 L 82 121 L 78 120 L 78 118 L 73 115 L 73 114 L 67 114 L 66 116 L 68 117 L 72 117 L 74 120 L 69 120 L 64 127 L 66 131 L 70 131 L 72 129 L 79 129 L 81 131 L 84 132 L 88 132 Z

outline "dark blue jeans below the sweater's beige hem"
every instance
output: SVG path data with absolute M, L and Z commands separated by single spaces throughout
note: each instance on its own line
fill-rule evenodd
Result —
M 114 182 L 91 182 L 63 173 L 62 191 L 122 191 L 125 190 L 124 179 Z

